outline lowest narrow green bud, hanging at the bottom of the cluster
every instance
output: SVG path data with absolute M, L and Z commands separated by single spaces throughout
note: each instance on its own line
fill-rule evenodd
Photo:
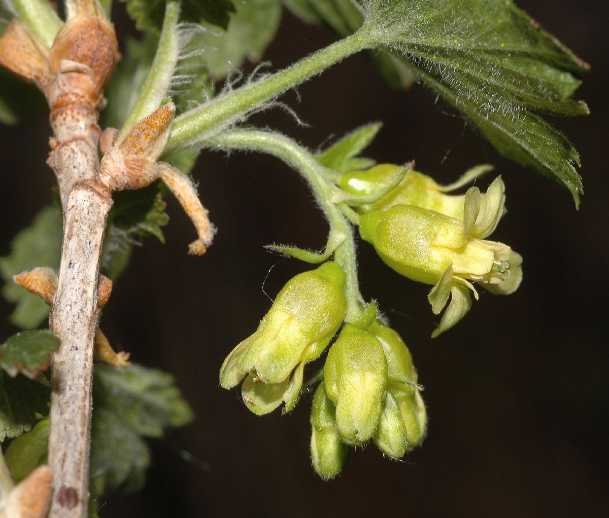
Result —
M 329 480 L 347 463 L 349 447 L 340 440 L 336 427 L 336 409 L 326 395 L 323 383 L 315 390 L 311 409 L 311 459 L 315 472 Z

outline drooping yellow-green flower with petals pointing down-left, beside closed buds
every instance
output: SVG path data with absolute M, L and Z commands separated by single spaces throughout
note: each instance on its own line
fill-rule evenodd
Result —
M 220 385 L 234 387 L 249 375 L 243 395 L 253 412 L 270 412 L 281 401 L 289 412 L 305 363 L 322 354 L 345 318 L 344 285 L 345 274 L 333 261 L 289 280 L 258 330 L 225 359 Z

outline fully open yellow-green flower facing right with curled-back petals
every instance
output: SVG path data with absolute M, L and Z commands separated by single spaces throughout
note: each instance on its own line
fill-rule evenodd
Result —
M 463 219 L 415 205 L 394 205 L 361 216 L 362 238 L 374 245 L 385 263 L 405 277 L 434 285 L 429 302 L 435 314 L 450 296 L 434 337 L 469 311 L 470 292 L 478 296 L 473 282 L 498 294 L 510 294 L 520 284 L 521 256 L 503 243 L 485 240 L 501 218 L 503 191 L 498 178 L 481 211 L 481 193 L 471 187 L 465 195 Z

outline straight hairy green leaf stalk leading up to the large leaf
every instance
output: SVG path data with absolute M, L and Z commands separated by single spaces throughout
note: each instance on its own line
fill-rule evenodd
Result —
M 359 32 L 337 41 L 292 66 L 241 88 L 220 95 L 175 119 L 165 153 L 195 145 L 217 133 L 220 128 L 237 122 L 288 89 L 319 74 L 323 69 L 359 52 L 366 38 Z

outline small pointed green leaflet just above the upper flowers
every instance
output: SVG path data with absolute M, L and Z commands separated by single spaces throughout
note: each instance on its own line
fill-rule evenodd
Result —
M 371 167 L 374 161 L 354 157 L 370 145 L 381 126 L 380 122 L 360 126 L 319 154 L 317 161 L 337 173 Z

